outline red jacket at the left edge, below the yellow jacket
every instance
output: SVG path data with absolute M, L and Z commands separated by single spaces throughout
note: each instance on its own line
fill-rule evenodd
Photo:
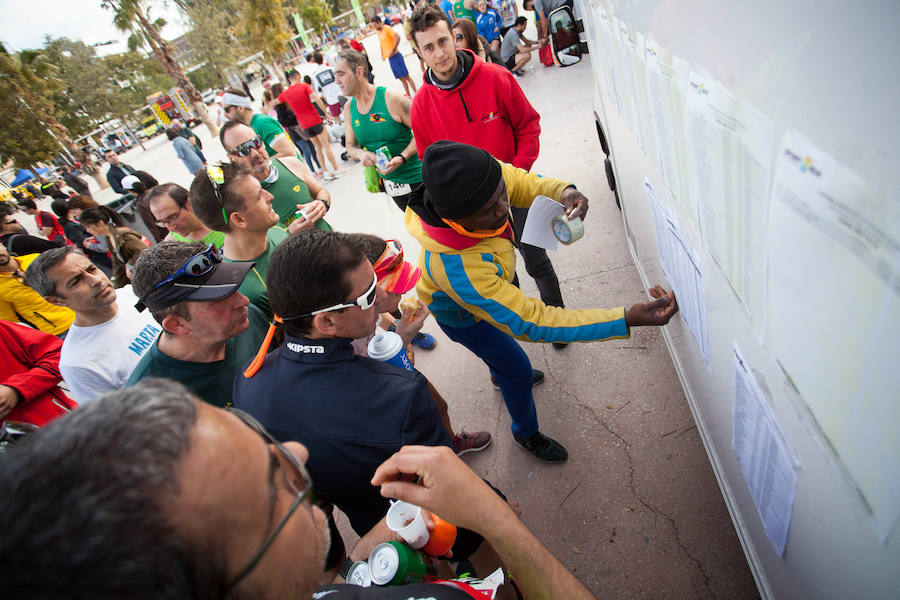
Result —
M 58 337 L 24 325 L 3 323 L 0 339 L 6 346 L 2 353 L 4 362 L 18 363 L 28 369 L 13 375 L 4 369 L 0 376 L 0 384 L 14 388 L 23 401 L 40 396 L 62 380 L 59 372 L 62 340 Z

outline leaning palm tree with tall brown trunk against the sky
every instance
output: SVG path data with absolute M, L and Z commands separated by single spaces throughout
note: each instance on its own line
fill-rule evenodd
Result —
M 218 127 L 212 122 L 206 112 L 203 98 L 197 93 L 197 89 L 184 73 L 184 69 L 172 55 L 172 48 L 159 34 L 157 28 L 147 18 L 145 9 L 141 6 L 141 0 L 101 0 L 100 5 L 113 11 L 113 25 L 121 32 L 132 32 L 143 37 L 150 46 L 153 56 L 162 63 L 169 76 L 175 80 L 187 95 L 194 110 L 206 125 L 212 135 L 219 133 Z

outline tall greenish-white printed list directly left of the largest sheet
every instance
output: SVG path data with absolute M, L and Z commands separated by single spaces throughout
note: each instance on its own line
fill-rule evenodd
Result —
M 762 337 L 765 219 L 775 126 L 715 80 L 688 79 L 688 171 L 705 246 Z

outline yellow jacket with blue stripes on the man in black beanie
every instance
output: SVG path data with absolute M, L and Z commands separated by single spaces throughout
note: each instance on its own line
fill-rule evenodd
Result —
M 512 165 L 501 165 L 513 206 L 531 206 L 534 197 L 541 194 L 559 200 L 563 190 L 571 185 Z M 531 342 L 588 342 L 628 337 L 625 307 L 570 310 L 547 306 L 512 285 L 516 254 L 509 239 L 492 237 L 463 249 L 453 248 L 433 239 L 428 226 L 423 225 L 411 208 L 406 210 L 406 228 L 422 245 L 419 255 L 422 277 L 416 284 L 416 292 L 434 318 L 444 325 L 471 327 L 485 320 L 515 338 Z

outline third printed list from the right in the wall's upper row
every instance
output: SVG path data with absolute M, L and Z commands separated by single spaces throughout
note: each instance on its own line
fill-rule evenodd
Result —
M 673 56 L 654 40 L 647 38 L 647 99 L 650 123 L 654 130 L 655 160 L 672 197 L 679 201 L 683 214 L 697 229 L 697 204 L 687 189 L 685 172 L 684 119 L 687 105 L 685 89 L 690 67 L 683 58 Z

